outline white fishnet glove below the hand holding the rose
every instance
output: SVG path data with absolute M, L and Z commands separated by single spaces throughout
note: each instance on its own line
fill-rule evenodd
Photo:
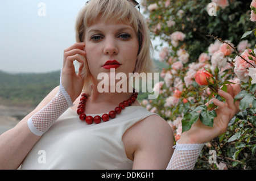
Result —
M 178 142 L 174 146 L 174 154 L 167 170 L 192 170 L 205 144 L 179 144 Z

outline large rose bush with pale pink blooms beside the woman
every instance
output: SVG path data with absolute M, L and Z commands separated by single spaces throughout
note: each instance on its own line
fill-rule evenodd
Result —
M 208 14 L 210 2 L 216 5 L 216 16 Z M 155 47 L 162 48 L 159 61 L 166 62 L 154 88 L 159 96 L 142 104 L 170 123 L 175 141 L 199 117 L 212 126 L 214 105 L 209 110 L 204 104 L 213 96 L 222 99 L 214 87 L 225 91 L 228 84 L 240 83 L 242 88 L 235 98 L 241 99 L 241 112 L 226 133 L 204 146 L 195 169 L 256 169 L 255 4 L 256 0 L 142 2 L 152 38 L 168 43 L 168 47 Z M 212 75 L 207 77 L 208 84 L 200 76 L 203 70 Z M 210 150 L 217 153 L 212 164 Z

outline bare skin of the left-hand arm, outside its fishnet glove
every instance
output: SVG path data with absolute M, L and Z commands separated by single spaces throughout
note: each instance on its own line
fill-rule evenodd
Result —
M 57 94 L 58 90 L 59 87 L 53 89 L 34 111 L 19 121 L 14 128 L 0 135 L 0 170 L 18 169 L 28 152 L 40 139 L 40 136 L 36 136 L 30 131 L 27 121 L 46 106 Z

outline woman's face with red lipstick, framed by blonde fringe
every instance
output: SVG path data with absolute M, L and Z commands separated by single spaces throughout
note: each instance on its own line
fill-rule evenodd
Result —
M 105 23 L 98 20 L 86 28 L 85 51 L 90 73 L 97 80 L 99 73 L 128 75 L 135 68 L 139 41 L 133 28 L 122 22 Z

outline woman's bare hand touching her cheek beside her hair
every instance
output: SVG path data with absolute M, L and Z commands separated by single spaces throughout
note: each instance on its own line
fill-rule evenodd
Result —
M 81 70 L 85 64 L 84 59 L 81 57 L 86 54 L 84 48 L 85 43 L 82 42 L 75 43 L 64 50 L 61 83 L 71 97 L 72 102 L 81 94 L 82 87 L 84 86 L 84 78 L 81 76 Z M 81 63 L 78 74 L 76 74 L 73 64 L 75 60 Z

